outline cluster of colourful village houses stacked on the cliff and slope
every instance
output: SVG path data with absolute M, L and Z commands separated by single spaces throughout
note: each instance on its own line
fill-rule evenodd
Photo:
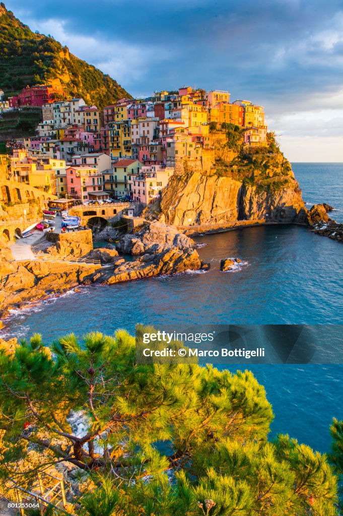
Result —
M 59 198 L 151 204 L 178 162 L 186 159 L 209 169 L 214 162 L 210 129 L 222 124 L 239 126 L 249 147 L 266 145 L 263 107 L 244 100 L 230 103 L 227 91 L 183 87 L 98 109 L 83 99 L 55 101 L 61 96 L 56 88 L 28 87 L 8 101 L 0 90 L 0 113 L 41 107 L 37 136 L 6 142 L 12 153 L 8 178 Z

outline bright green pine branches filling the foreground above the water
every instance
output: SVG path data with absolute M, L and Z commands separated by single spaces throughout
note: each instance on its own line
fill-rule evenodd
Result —
M 0 352 L 1 479 L 67 462 L 83 516 L 336 515 L 328 459 L 272 418 L 252 373 L 137 364 L 123 330 Z

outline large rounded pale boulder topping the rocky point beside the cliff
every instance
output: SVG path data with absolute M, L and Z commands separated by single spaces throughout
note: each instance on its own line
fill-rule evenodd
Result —
M 175 226 L 157 221 L 146 224 L 137 233 L 124 235 L 117 244 L 117 249 L 126 254 L 158 254 L 172 247 L 179 250 L 194 249 L 194 242 Z

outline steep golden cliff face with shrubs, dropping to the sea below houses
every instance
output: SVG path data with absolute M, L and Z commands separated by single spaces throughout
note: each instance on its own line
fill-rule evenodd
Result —
M 305 223 L 305 205 L 289 163 L 279 150 L 264 152 L 214 165 L 206 173 L 188 168 L 172 176 L 162 191 L 160 219 L 185 226 L 253 219 Z

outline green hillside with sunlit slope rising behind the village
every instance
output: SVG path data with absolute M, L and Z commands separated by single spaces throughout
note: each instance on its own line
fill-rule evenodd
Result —
M 33 33 L 0 4 L 0 89 L 15 94 L 27 85 L 55 80 L 67 95 L 81 96 L 98 107 L 130 95 L 86 61 L 69 53 L 51 36 Z

